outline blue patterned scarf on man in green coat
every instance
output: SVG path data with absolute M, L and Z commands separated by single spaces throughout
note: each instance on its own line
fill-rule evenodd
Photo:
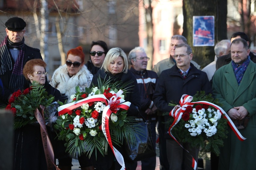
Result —
M 242 65 L 240 65 L 239 67 L 236 63 L 233 62 L 233 60 L 231 61 L 238 85 L 240 85 L 242 81 L 243 75 L 247 69 L 249 62 L 250 62 L 250 56 L 248 56 L 245 62 L 243 62 Z

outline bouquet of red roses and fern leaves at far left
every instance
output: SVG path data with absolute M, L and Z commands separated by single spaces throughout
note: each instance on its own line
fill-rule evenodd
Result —
M 33 81 L 32 85 L 14 92 L 5 109 L 14 113 L 14 129 L 21 128 L 27 124 L 38 122 L 34 112 L 41 106 L 48 107 L 54 100 L 52 95 L 48 95 L 41 84 Z M 47 120 L 51 115 L 45 116 Z

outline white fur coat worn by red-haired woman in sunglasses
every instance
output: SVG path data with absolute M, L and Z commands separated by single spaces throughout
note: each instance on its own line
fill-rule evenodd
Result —
M 75 94 L 75 87 L 79 86 L 80 90 L 83 91 L 85 87 L 89 87 L 92 81 L 93 75 L 87 69 L 85 65 L 72 77 L 69 77 L 67 65 L 60 66 L 53 72 L 50 84 L 58 89 L 60 93 L 64 93 L 68 96 L 67 103 L 72 100 L 71 95 Z

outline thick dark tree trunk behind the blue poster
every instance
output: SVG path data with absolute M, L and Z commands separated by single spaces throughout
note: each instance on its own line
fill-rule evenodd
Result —
M 193 60 L 203 68 L 214 60 L 214 46 L 193 46 L 193 16 L 215 16 L 215 44 L 227 39 L 227 0 L 183 0 L 183 36 L 193 50 Z

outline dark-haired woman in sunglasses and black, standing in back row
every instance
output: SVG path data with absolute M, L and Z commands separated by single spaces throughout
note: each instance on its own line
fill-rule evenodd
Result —
M 90 48 L 90 60 L 85 64 L 90 72 L 95 75 L 108 53 L 108 46 L 104 41 L 93 41 Z

